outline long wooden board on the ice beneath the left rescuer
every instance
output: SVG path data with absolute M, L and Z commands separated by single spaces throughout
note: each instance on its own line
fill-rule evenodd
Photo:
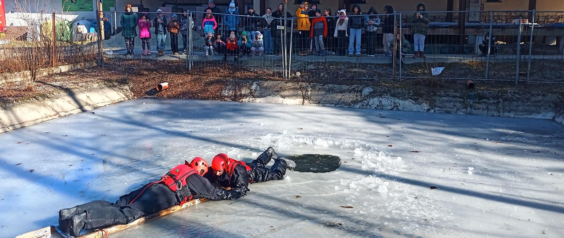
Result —
M 184 208 L 188 208 L 188 206 L 193 206 L 193 205 L 199 204 L 200 202 L 204 202 L 204 201 L 207 201 L 207 199 L 193 199 L 193 200 L 187 201 L 182 206 L 176 205 L 176 206 L 173 206 L 173 207 L 168 208 L 168 209 L 157 211 L 156 213 L 153 213 L 151 215 L 147 215 L 145 217 L 136 219 L 135 221 L 133 221 L 129 224 L 111 226 L 111 227 L 103 229 L 103 231 L 102 230 L 94 231 L 92 233 L 88 233 L 88 234 L 80 236 L 78 238 L 101 238 L 101 237 L 105 237 L 108 234 L 125 230 L 129 227 L 136 226 L 138 224 L 142 224 L 142 223 L 147 222 L 147 221 L 151 221 L 152 219 L 155 219 L 157 217 L 162 217 L 164 215 L 174 213 L 175 211 L 182 210 Z M 59 231 L 55 230 L 55 226 L 48 226 L 48 227 L 43 227 L 39 230 L 23 233 L 23 234 L 16 236 L 14 238 L 50 238 L 50 237 L 51 238 L 65 238 L 67 236 L 61 235 L 61 233 Z

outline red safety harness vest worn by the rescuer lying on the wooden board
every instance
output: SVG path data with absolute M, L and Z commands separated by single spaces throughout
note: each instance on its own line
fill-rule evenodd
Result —
M 177 165 L 176 167 L 171 169 L 169 171 L 169 173 L 166 173 L 157 182 L 149 183 L 145 188 L 143 188 L 143 190 L 139 193 L 139 195 L 137 195 L 135 197 L 135 199 L 133 199 L 133 200 L 131 200 L 131 202 L 129 202 L 129 204 L 132 204 L 139 196 L 141 196 L 141 194 L 149 186 L 151 186 L 155 183 L 162 183 L 162 184 L 165 184 L 166 187 L 169 187 L 173 192 L 176 193 L 178 203 L 179 203 L 178 205 L 182 206 L 184 204 L 184 202 L 191 200 L 192 197 L 193 197 L 192 194 L 190 194 L 190 189 L 184 188 L 184 186 L 186 186 L 186 184 L 187 184 L 186 179 L 188 178 L 188 176 L 195 174 L 195 173 L 196 173 L 196 170 L 193 169 L 192 166 L 190 166 L 190 164 Z M 187 191 L 190 194 L 190 196 L 184 195 L 183 192 L 182 192 L 182 188 L 184 188 L 184 191 Z

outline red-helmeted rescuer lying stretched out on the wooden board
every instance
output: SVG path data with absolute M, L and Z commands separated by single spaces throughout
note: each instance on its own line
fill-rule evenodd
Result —
M 82 228 L 99 229 L 117 224 L 127 224 L 140 217 L 156 213 L 191 199 L 238 199 L 244 196 L 238 190 L 228 190 L 212 185 L 201 175 L 208 171 L 208 162 L 196 157 L 173 168 L 157 182 L 121 196 L 115 203 L 92 201 L 59 211 L 61 230 L 70 228 L 70 235 L 78 237 Z

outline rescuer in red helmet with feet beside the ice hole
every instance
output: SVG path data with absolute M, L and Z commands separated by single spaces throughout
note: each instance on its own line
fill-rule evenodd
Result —
M 274 165 L 268 169 L 266 165 L 270 160 L 274 160 Z M 211 169 L 204 177 L 218 186 L 231 187 L 231 190 L 246 195 L 246 192 L 249 191 L 249 183 L 284 179 L 287 168 L 296 168 L 296 162 L 278 156 L 272 147 L 268 147 L 250 164 L 233 160 L 226 154 L 220 153 L 214 156 L 211 161 Z

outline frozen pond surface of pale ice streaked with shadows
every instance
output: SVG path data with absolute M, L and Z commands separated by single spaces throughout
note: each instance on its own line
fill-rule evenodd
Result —
M 4 113 L 4 112 L 3 112 Z M 112 237 L 562 237 L 564 127 L 549 120 L 140 99 L 0 134 L 0 237 L 195 156 L 341 158 Z M 33 171 L 33 172 L 30 172 Z M 431 186 L 437 187 L 430 189 Z

